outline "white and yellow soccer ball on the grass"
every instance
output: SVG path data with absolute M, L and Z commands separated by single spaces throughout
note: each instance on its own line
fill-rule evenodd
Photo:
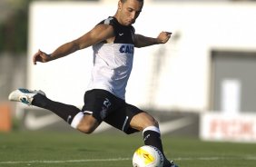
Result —
M 143 145 L 133 153 L 133 167 L 162 167 L 162 163 L 162 152 L 151 145 Z

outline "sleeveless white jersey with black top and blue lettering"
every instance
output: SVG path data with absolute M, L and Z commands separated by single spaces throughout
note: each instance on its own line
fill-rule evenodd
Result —
M 134 28 L 123 26 L 114 17 L 100 24 L 113 25 L 113 44 L 101 42 L 93 45 L 94 67 L 88 90 L 103 89 L 125 99 L 125 88 L 133 68 Z

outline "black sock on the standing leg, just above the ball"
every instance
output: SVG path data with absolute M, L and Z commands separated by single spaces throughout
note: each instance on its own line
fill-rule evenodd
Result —
M 154 127 L 154 129 L 155 128 L 156 127 Z M 143 131 L 143 139 L 144 139 L 144 144 L 145 145 L 152 145 L 152 146 L 156 147 L 160 152 L 162 152 L 162 155 L 164 155 L 163 150 L 162 150 L 161 135 L 160 135 L 159 132 L 145 129 Z

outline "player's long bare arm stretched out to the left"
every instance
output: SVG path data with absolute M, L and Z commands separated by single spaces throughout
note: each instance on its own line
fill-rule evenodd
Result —
M 113 36 L 114 31 L 112 25 L 96 25 L 90 32 L 84 34 L 83 36 L 59 46 L 52 54 L 45 54 L 39 50 L 36 54 L 34 54 L 33 62 L 34 64 L 36 64 L 36 62 L 46 63 L 64 57 L 68 54 L 72 54 L 93 44 L 100 43 Z

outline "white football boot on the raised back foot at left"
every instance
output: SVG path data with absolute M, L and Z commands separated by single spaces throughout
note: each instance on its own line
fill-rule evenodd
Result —
M 8 99 L 10 101 L 21 102 L 27 105 L 31 105 L 34 99 L 34 95 L 37 93 L 40 93 L 45 96 L 45 93 L 43 91 L 32 91 L 24 88 L 19 88 L 14 92 L 10 93 Z

